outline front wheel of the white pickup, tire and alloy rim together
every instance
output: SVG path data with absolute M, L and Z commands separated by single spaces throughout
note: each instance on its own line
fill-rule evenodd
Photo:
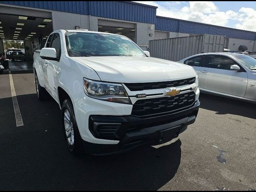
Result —
M 73 154 L 84 153 L 82 138 L 76 124 L 74 108 L 69 99 L 64 100 L 62 104 L 62 122 L 64 128 L 64 136 L 70 152 Z

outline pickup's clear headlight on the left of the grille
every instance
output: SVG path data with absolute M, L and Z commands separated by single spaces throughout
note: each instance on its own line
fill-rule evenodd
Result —
M 106 83 L 84 78 L 84 92 L 92 98 L 131 104 L 128 94 L 121 84 Z

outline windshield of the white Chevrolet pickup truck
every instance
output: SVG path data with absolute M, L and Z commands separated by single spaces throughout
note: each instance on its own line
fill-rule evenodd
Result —
M 66 46 L 71 57 L 145 56 L 132 40 L 118 35 L 66 32 Z

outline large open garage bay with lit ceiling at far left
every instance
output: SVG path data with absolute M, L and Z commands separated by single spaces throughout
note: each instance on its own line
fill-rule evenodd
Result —
M 10 50 L 12 48 L 24 52 L 26 58 L 23 59 L 20 56 L 21 59 L 18 60 L 20 52 L 15 52 L 15 58 L 17 58 L 16 67 L 18 68 L 19 66 L 18 62 L 20 62 L 20 66 L 26 65 L 24 64 L 24 60 L 26 60 L 29 67 L 25 66 L 25 68 L 31 68 L 34 51 L 44 46 L 48 35 L 52 31 L 51 12 L 15 6 L 0 6 L 0 41 L 3 43 L 12 42 L 10 45 L 5 43 L 3 52 L 5 57 L 7 56 L 6 60 L 9 59 L 9 68 L 11 68 L 12 64 L 12 52 Z M 22 42 L 22 48 L 14 42 Z M 10 55 L 6 55 L 8 49 L 11 52 Z

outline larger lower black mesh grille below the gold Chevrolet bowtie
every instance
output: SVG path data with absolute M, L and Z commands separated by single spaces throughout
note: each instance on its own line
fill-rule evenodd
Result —
M 194 92 L 188 92 L 174 97 L 137 100 L 132 107 L 132 115 L 142 117 L 171 113 L 191 106 L 195 102 L 195 96 Z

